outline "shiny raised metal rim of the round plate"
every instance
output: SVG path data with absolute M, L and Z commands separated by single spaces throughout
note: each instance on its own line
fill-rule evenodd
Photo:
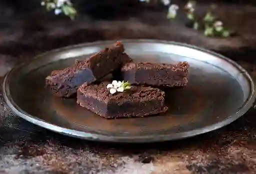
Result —
M 194 130 L 190 130 L 190 131 L 186 131 L 186 132 L 174 133 L 174 134 L 172 134 L 172 136 L 167 136 L 166 134 L 161 134 L 161 135 L 158 135 L 157 137 L 150 136 L 150 135 L 142 135 L 142 136 L 132 136 L 132 137 L 128 137 L 128 138 L 125 138 L 124 136 L 122 136 L 122 137 L 106 136 L 106 135 L 102 135 L 102 134 L 93 134 L 93 133 L 88 133 L 88 132 L 76 131 L 73 129 L 67 129 L 67 128 L 63 128 L 63 127 L 60 127 L 60 126 L 57 126 L 54 124 L 50 124 L 42 119 L 39 119 L 37 117 L 34 117 L 34 116 L 28 114 L 28 113 L 24 112 L 22 109 L 20 109 L 15 104 L 15 102 L 12 101 L 11 95 L 9 94 L 8 77 L 10 76 L 10 74 L 13 71 L 24 66 L 26 64 L 26 61 L 25 61 L 25 62 L 21 63 L 20 65 L 13 67 L 9 72 L 6 73 L 6 75 L 4 77 L 4 80 L 2 83 L 2 93 L 3 93 L 3 98 L 4 98 L 7 106 L 16 115 L 18 115 L 19 117 L 23 118 L 24 120 L 26 120 L 32 124 L 35 124 L 39 127 L 43 127 L 45 129 L 51 130 L 53 132 L 67 135 L 70 137 L 75 137 L 75 138 L 85 139 L 85 140 L 92 140 L 92 141 L 99 141 L 99 142 L 149 143 L 149 142 L 163 142 L 163 141 L 179 140 L 179 139 L 189 138 L 189 137 L 193 137 L 196 135 L 200 135 L 200 134 L 204 134 L 207 132 L 217 130 L 221 127 L 224 127 L 224 126 L 232 123 L 233 121 L 237 120 L 238 118 L 240 118 L 251 108 L 251 106 L 254 103 L 254 100 L 256 98 L 256 93 L 255 93 L 256 88 L 255 88 L 254 82 L 253 82 L 251 76 L 249 75 L 249 73 L 243 67 L 241 67 L 239 64 L 237 64 L 235 61 L 233 61 L 219 53 L 210 51 L 205 48 L 197 47 L 197 46 L 186 44 L 186 43 L 175 42 L 175 41 L 158 40 L 158 39 L 119 39 L 119 40 L 121 40 L 123 43 L 125 43 L 125 42 L 135 42 L 135 43 L 146 42 L 146 43 L 163 43 L 163 44 L 172 44 L 172 45 L 177 45 L 177 46 L 185 46 L 188 48 L 192 48 L 192 49 L 195 49 L 198 51 L 202 51 L 202 52 L 211 54 L 213 56 L 217 56 L 221 59 L 224 59 L 228 63 L 232 64 L 232 66 L 236 67 L 237 69 L 239 69 L 240 71 L 243 72 L 242 73 L 243 76 L 245 76 L 248 79 L 249 84 L 250 84 L 250 95 L 247 98 L 247 100 L 243 103 L 241 108 L 239 108 L 237 110 L 236 113 L 228 116 L 226 119 L 224 119 L 220 122 L 217 122 L 215 124 L 212 124 L 212 125 L 209 125 L 206 127 L 202 127 L 202 128 L 198 128 L 198 129 L 194 129 Z M 60 47 L 57 49 L 52 49 L 50 51 L 46 51 L 44 53 L 38 54 L 38 55 L 34 56 L 32 59 L 30 59 L 29 62 L 31 62 L 34 59 L 37 59 L 41 56 L 45 56 L 47 54 L 51 54 L 51 53 L 66 50 L 66 49 L 73 49 L 76 47 L 86 47 L 86 46 L 92 46 L 92 45 L 98 45 L 98 44 L 106 44 L 107 45 L 107 44 L 110 44 L 113 42 L 115 42 L 115 40 L 103 40 L 103 41 L 85 42 L 85 43 L 79 43 L 79 44 L 69 45 L 69 46 L 65 46 L 65 47 Z

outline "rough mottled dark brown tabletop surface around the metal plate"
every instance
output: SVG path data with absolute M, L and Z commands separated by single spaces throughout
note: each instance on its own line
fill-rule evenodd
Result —
M 233 12 L 243 23 L 234 25 L 242 34 L 229 39 L 204 37 L 182 27 L 181 19 L 174 25 L 161 21 L 165 14 L 159 10 L 141 10 L 137 16 L 115 20 L 82 16 L 69 21 L 40 12 L 5 16 L 0 21 L 0 82 L 13 66 L 39 52 L 78 42 L 121 38 L 157 38 L 203 46 L 235 59 L 256 79 L 256 22 L 243 18 L 255 14 L 256 9 L 239 6 L 244 10 L 238 14 L 230 10 L 236 7 L 222 5 L 222 16 Z M 231 20 L 226 18 L 230 25 Z M 224 128 L 180 141 L 96 143 L 28 123 L 9 110 L 0 93 L 0 174 L 255 174 L 255 114 L 251 108 Z

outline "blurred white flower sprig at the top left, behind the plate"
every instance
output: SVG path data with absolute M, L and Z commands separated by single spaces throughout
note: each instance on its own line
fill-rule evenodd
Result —
M 41 5 L 46 7 L 46 10 L 54 10 L 56 15 L 63 12 L 66 16 L 74 19 L 76 10 L 73 8 L 73 4 L 70 0 L 42 0 Z

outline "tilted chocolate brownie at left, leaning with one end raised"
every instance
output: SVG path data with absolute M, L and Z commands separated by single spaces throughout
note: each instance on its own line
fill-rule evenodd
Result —
M 76 60 L 71 67 L 52 71 L 46 77 L 46 85 L 55 96 L 70 97 L 83 83 L 90 84 L 130 60 L 123 44 L 116 42 L 83 61 Z

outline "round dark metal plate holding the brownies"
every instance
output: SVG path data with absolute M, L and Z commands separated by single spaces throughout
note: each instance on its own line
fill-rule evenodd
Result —
M 190 64 L 188 85 L 164 89 L 165 114 L 106 120 L 54 97 L 45 88 L 52 70 L 69 66 L 115 41 L 85 43 L 46 52 L 12 69 L 5 77 L 7 105 L 23 119 L 72 137 L 108 142 L 157 142 L 206 133 L 243 115 L 255 98 L 249 74 L 232 60 L 195 46 L 158 40 L 123 40 L 135 61 Z

